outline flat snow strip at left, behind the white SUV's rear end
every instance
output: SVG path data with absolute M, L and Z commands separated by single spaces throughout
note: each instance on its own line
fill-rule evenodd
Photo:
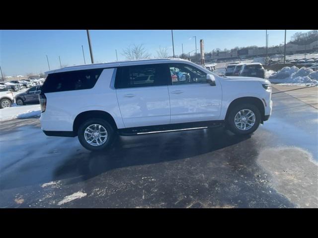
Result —
M 13 105 L 14 106 L 14 105 Z M 0 121 L 36 118 L 41 116 L 40 105 L 16 106 L 0 109 Z

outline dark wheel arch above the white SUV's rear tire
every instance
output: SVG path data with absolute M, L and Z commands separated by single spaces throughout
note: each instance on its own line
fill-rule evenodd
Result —
M 87 119 L 91 118 L 100 118 L 100 119 L 105 119 L 107 122 L 109 122 L 115 130 L 117 130 L 117 124 L 114 120 L 114 118 L 107 112 L 105 111 L 100 111 L 100 110 L 90 110 L 90 111 L 85 111 L 80 113 L 76 118 L 74 119 L 73 122 L 73 131 L 77 135 L 79 125 Z

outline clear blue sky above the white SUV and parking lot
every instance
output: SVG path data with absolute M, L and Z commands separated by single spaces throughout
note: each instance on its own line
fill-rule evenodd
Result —
M 308 30 L 288 30 L 286 41 L 296 32 Z M 279 45 L 284 41 L 284 30 L 268 30 L 269 45 Z M 265 46 L 265 30 L 174 30 L 175 55 L 188 53 L 204 40 L 205 52 L 213 49 L 231 49 L 236 46 Z M 125 60 L 122 49 L 131 44 L 144 44 L 157 57 L 159 46 L 167 47 L 172 56 L 171 30 L 91 30 L 90 38 L 95 62 Z M 62 65 L 84 64 L 81 45 L 86 63 L 90 63 L 87 35 L 85 30 L 0 30 L 0 66 L 6 76 L 25 75 L 48 71 Z M 193 54 L 193 53 L 192 53 Z

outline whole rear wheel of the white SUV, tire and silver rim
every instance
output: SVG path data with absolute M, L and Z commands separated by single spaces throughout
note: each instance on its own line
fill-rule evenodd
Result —
M 103 150 L 110 147 L 114 129 L 104 119 L 88 119 L 80 124 L 78 136 L 80 144 L 87 150 Z

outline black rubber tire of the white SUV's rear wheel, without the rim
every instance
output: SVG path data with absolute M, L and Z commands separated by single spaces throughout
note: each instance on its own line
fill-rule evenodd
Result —
M 92 124 L 102 125 L 107 131 L 106 141 L 99 146 L 94 146 L 94 145 L 89 144 L 86 141 L 85 136 L 84 136 L 85 129 L 89 125 L 92 125 Z M 87 150 L 90 150 L 90 151 L 97 151 L 97 150 L 109 149 L 109 147 L 111 146 L 111 144 L 114 140 L 115 133 L 114 133 L 113 126 L 111 126 L 111 124 L 108 123 L 106 120 L 100 119 L 100 118 L 92 118 L 92 119 L 87 119 L 80 124 L 79 130 L 78 130 L 78 136 L 79 136 L 79 142 L 84 148 L 86 148 Z

